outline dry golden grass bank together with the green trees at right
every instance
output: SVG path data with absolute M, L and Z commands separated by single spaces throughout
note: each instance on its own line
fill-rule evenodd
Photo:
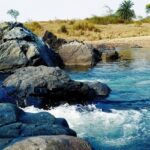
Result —
M 26 22 L 25 26 L 39 36 L 48 30 L 60 38 L 69 40 L 91 41 L 150 35 L 150 17 L 138 16 L 134 19 L 133 5 L 131 0 L 124 0 L 116 12 L 105 6 L 106 16 L 92 16 L 83 20 L 30 21 Z M 150 4 L 145 6 L 145 10 L 148 15 Z

